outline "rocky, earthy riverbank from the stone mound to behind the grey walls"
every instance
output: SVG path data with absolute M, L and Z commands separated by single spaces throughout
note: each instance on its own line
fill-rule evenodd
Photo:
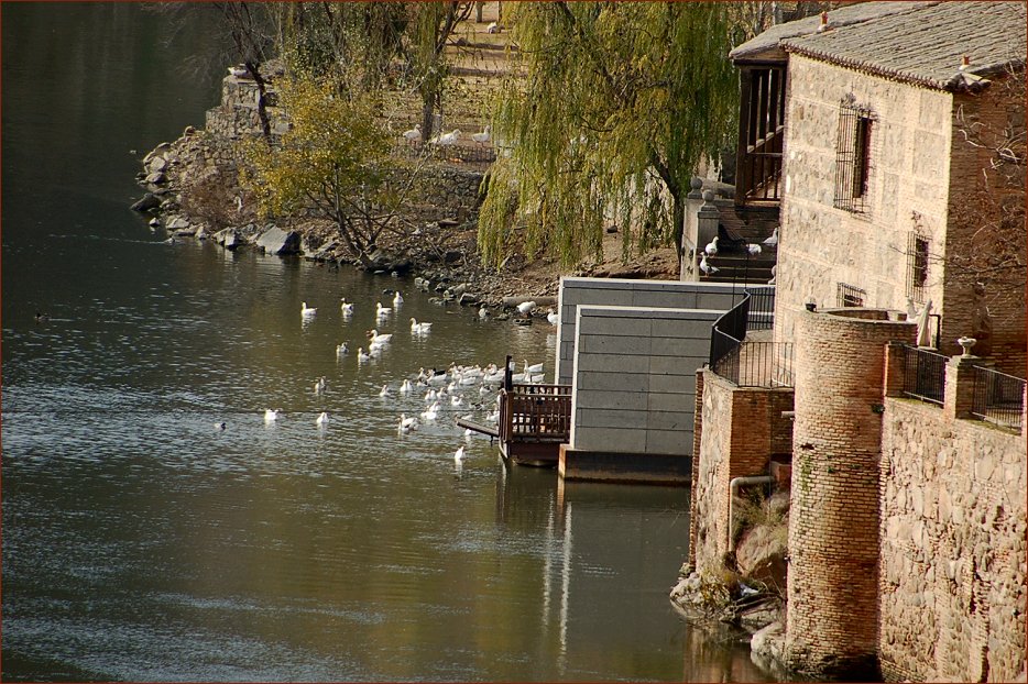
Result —
M 333 224 L 324 218 L 260 218 L 255 201 L 239 186 L 230 141 L 187 126 L 177 140 L 157 145 L 142 165 L 136 179 L 145 195 L 133 208 L 149 216 L 151 229 L 164 230 L 171 241 L 211 240 L 227 250 L 260 249 L 368 268 L 348 252 Z M 426 289 L 442 297 L 491 307 L 503 307 L 504 300 L 556 297 L 561 275 L 678 278 L 674 247 L 623 262 L 617 232 L 605 235 L 602 260 L 578 268 L 562 268 L 555 258 L 529 258 L 521 252 L 493 268 L 479 255 L 475 218 L 475 212 L 457 212 L 453 220 L 429 221 L 408 234 L 383 234 L 371 255 L 370 271 L 413 275 L 427 280 Z M 545 313 L 545 308 L 536 311 Z

